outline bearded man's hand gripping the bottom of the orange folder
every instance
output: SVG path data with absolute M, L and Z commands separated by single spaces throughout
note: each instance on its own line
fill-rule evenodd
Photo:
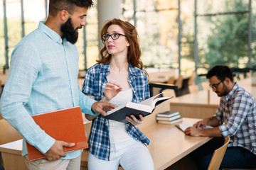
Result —
M 56 140 L 52 147 L 44 154 L 48 161 L 53 161 L 60 159 L 60 157 L 65 157 L 65 152 L 63 147 L 73 147 L 75 143 L 68 143 L 60 140 Z

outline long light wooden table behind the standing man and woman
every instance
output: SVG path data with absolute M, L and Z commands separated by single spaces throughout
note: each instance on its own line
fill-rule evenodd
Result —
M 151 141 L 148 149 L 156 170 L 168 168 L 211 139 L 210 137 L 190 137 L 174 125 L 156 123 L 156 113 L 164 111 L 164 108 L 168 106 L 169 103 L 163 103 L 161 107 L 156 107 L 155 111 L 145 118 L 144 123 L 139 125 L 139 129 Z M 183 118 L 182 123 L 196 123 L 196 121 L 198 119 Z M 88 128 L 90 127 L 85 127 L 87 132 L 89 131 Z M 7 167 L 10 167 L 8 169 L 26 169 L 25 160 L 21 157 L 21 150 L 22 140 L 0 145 L 0 152 L 6 169 Z M 87 153 L 82 154 L 81 169 L 87 169 Z

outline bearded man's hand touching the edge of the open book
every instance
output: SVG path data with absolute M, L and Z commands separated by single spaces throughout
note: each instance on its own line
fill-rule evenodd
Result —
M 113 105 L 112 103 L 106 103 L 102 101 L 98 101 L 92 104 L 92 111 L 102 115 L 107 115 L 105 111 L 111 111 L 113 108 L 117 108 L 117 106 Z

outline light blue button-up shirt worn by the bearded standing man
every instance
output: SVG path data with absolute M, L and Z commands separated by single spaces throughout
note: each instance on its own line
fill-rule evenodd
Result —
M 62 45 L 63 41 L 63 45 Z M 55 140 L 33 121 L 31 115 L 81 106 L 82 113 L 93 115 L 95 100 L 78 86 L 78 50 L 43 22 L 23 38 L 11 55 L 11 66 L 1 96 L 1 115 L 31 145 L 46 153 Z M 69 152 L 64 159 L 78 157 Z M 27 154 L 23 140 L 22 154 Z

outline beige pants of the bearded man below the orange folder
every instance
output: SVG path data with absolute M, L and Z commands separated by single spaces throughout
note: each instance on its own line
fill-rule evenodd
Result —
M 55 161 L 38 159 L 29 161 L 27 154 L 25 162 L 29 170 L 80 170 L 81 155 L 74 159 L 58 159 Z

